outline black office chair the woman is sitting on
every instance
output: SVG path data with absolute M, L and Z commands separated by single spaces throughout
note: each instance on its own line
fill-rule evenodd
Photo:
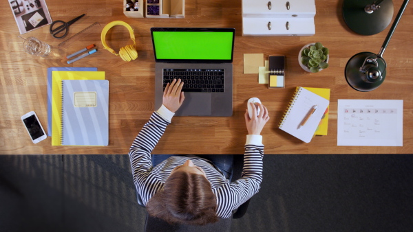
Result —
M 242 167 L 244 165 L 244 155 L 234 155 L 233 159 L 233 178 L 234 180 L 241 177 Z M 231 180 L 230 180 L 231 181 Z M 143 205 L 142 199 L 140 198 L 139 194 L 136 193 L 136 198 L 138 200 L 138 204 L 142 207 Z M 213 224 L 207 224 L 204 226 L 195 226 L 195 225 L 188 225 L 188 224 L 169 224 L 164 220 L 159 218 L 153 218 L 149 216 L 147 213 L 146 221 L 145 221 L 145 231 L 152 232 L 152 231 L 162 231 L 162 232 L 169 232 L 169 231 L 194 231 L 194 232 L 204 232 L 204 231 L 231 231 L 231 220 L 233 218 L 242 218 L 248 209 L 248 205 L 251 199 L 244 202 L 244 204 L 240 205 L 238 209 L 233 211 L 232 218 L 220 218 L 218 222 Z

